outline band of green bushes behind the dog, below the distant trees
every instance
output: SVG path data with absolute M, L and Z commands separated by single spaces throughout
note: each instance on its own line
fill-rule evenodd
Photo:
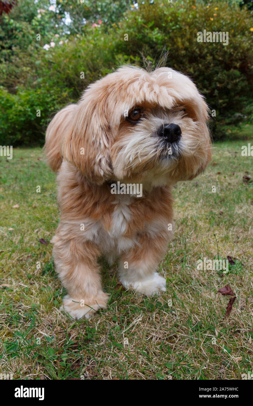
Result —
M 143 3 L 143 4 L 142 4 Z M 253 94 L 253 50 L 251 12 L 236 2 L 205 1 L 141 2 L 138 10 L 126 13 L 118 25 L 86 27 L 85 35 L 69 36 L 69 41 L 48 51 L 35 46 L 27 63 L 19 52 L 15 89 L 4 82 L 0 119 L 3 139 L 12 145 L 33 143 L 44 138 L 47 119 L 53 112 L 77 100 L 85 86 L 123 63 L 142 65 L 141 52 L 156 64 L 164 45 L 170 50 L 168 66 L 188 74 L 216 110 L 212 122 L 215 138 L 224 137 L 226 123 L 247 115 Z M 197 32 L 229 32 L 229 45 L 199 43 Z M 125 34 L 128 41 L 124 41 Z M 141 51 L 141 52 L 140 52 Z M 31 49 L 29 55 L 32 53 Z M 1 66 L 8 73 L 8 61 Z M 84 72 L 84 79 L 80 78 Z M 8 77 L 8 74 L 6 75 Z M 22 79 L 23 78 L 23 79 Z M 36 110 L 41 117 L 36 117 Z M 6 142 L 5 142 L 6 143 Z

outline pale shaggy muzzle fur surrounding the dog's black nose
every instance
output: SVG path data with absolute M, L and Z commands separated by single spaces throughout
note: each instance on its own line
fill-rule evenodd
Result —
M 178 125 L 182 131 L 174 143 L 158 136 L 158 129 L 170 123 Z M 145 177 L 152 173 L 167 175 L 168 179 L 188 179 L 197 173 L 206 154 L 206 142 L 201 140 L 199 124 L 183 109 L 166 112 L 157 108 L 138 124 L 121 131 L 112 148 L 113 170 L 119 179 Z

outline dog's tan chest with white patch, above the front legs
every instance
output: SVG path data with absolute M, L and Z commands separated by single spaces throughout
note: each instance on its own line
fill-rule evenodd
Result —
M 156 196 L 147 200 L 130 195 L 116 195 L 110 205 L 104 205 L 99 220 L 90 217 L 84 221 L 85 240 L 94 242 L 101 253 L 115 257 L 139 246 L 139 235 L 142 233 L 148 238 L 164 233 L 172 211 L 169 214 L 169 204 L 164 205 L 164 212 L 159 210 L 158 203 L 161 204 L 162 199 L 159 202 L 157 199 Z

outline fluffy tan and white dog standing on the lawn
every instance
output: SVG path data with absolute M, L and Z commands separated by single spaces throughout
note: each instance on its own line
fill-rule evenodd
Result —
M 51 242 L 71 317 L 106 308 L 101 255 L 118 259 L 125 289 L 147 296 L 166 291 L 156 269 L 173 237 L 171 189 L 210 161 L 208 117 L 188 76 L 129 65 L 89 85 L 77 104 L 54 116 L 45 152 L 58 173 L 61 220 Z

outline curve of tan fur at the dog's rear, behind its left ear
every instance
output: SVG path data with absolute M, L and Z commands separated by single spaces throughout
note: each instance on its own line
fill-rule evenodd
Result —
M 61 142 L 75 110 L 76 104 L 69 104 L 59 111 L 50 122 L 45 133 L 44 149 L 47 162 L 54 172 L 58 172 L 61 166 Z

